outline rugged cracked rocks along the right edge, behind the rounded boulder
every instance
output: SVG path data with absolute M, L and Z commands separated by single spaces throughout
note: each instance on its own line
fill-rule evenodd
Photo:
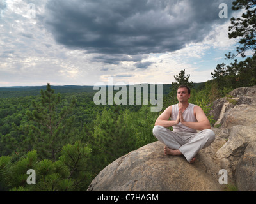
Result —
M 228 171 L 239 191 L 256 191 L 256 86 L 238 88 L 228 95 L 214 101 L 212 107 L 218 119 L 216 136 L 227 141 L 212 158 Z

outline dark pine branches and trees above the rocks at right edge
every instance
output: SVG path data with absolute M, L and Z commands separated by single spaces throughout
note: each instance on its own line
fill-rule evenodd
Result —
M 231 26 L 229 27 L 229 38 L 239 40 L 239 46 L 236 48 L 237 54 L 226 54 L 228 59 L 234 59 L 241 54 L 246 57 L 248 50 L 253 52 L 252 57 L 237 62 L 235 60 L 230 65 L 222 63 L 218 64 L 212 78 L 218 83 L 218 89 L 223 90 L 221 96 L 225 96 L 228 91 L 237 87 L 253 86 L 256 84 L 256 2 L 255 1 L 234 1 L 232 10 L 243 10 L 241 17 L 231 18 Z

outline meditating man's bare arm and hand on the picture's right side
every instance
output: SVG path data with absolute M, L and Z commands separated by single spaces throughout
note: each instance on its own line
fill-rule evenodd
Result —
M 179 111 L 180 114 L 180 122 L 184 124 L 184 126 L 187 126 L 189 128 L 193 128 L 196 130 L 204 130 L 204 129 L 211 129 L 211 124 L 209 120 L 207 119 L 204 111 L 199 106 L 195 106 L 194 109 L 196 120 L 198 122 L 186 122 L 183 119 L 182 112 Z

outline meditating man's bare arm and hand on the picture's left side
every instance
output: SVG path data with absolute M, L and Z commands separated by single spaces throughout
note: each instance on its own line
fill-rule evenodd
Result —
M 177 119 L 173 121 L 173 120 L 169 120 L 171 117 L 171 114 L 172 114 L 172 106 L 169 106 L 156 119 L 155 126 L 163 126 L 165 128 L 169 128 L 171 126 L 175 126 L 176 124 L 178 124 L 180 122 L 180 116 L 178 115 Z

